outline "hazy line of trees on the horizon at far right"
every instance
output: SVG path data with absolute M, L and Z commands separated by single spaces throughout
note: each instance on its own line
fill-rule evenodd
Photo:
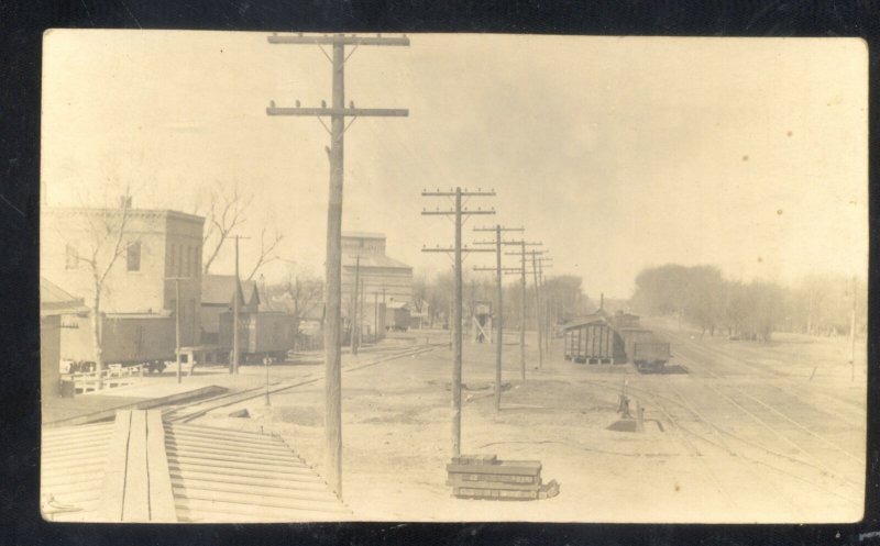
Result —
M 865 327 L 865 282 L 839 275 L 811 275 L 793 286 L 767 280 L 725 278 L 715 266 L 668 264 L 642 269 L 630 300 L 647 314 L 676 315 L 700 327 L 730 336 L 769 341 L 773 332 L 848 335 Z

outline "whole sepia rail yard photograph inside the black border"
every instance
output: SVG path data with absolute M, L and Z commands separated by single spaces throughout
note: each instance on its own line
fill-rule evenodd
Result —
M 858 38 L 43 35 L 50 522 L 851 523 Z

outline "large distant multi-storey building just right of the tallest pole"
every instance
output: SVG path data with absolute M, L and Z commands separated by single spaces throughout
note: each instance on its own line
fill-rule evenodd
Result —
M 386 237 L 382 233 L 342 234 L 342 314 L 348 316 L 351 313 L 355 269 L 360 256 L 360 283 L 363 287 L 363 311 L 360 314 L 362 322 L 370 325 L 373 332 L 383 331 L 386 325 L 394 324 L 392 317 L 386 314 L 392 309 L 397 309 L 395 319 L 403 321 L 400 314 L 408 312 L 413 303 L 413 268 L 387 256 L 385 241 Z M 404 309 L 406 311 L 403 311 Z M 376 316 L 378 323 L 374 324 Z M 409 324 L 408 317 L 406 324 Z

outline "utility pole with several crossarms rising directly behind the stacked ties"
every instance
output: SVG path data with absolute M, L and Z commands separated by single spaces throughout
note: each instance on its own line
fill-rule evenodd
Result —
M 462 190 L 455 188 L 449 191 L 422 191 L 422 197 L 447 197 L 454 198 L 454 209 L 450 211 L 421 211 L 425 215 L 453 215 L 455 216 L 455 246 L 453 248 L 422 248 L 422 252 L 428 253 L 453 253 L 455 260 L 455 304 L 453 309 L 452 321 L 454 323 L 452 344 L 454 347 L 454 357 L 452 360 L 452 456 L 458 457 L 461 455 L 461 348 L 462 348 L 462 332 L 461 332 L 461 305 L 462 305 L 462 276 L 461 276 L 461 256 L 463 253 L 469 252 L 492 252 L 490 248 L 465 248 L 461 244 L 461 225 L 462 218 L 472 214 L 495 214 L 494 210 L 484 211 L 477 209 L 471 211 L 462 208 L 462 197 L 477 197 L 477 196 L 495 196 L 495 191 L 482 191 L 477 188 L 476 191 Z

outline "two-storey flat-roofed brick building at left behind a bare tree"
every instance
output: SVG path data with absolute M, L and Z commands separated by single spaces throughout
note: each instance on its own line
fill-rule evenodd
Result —
M 41 274 L 62 289 L 95 296 L 92 269 L 109 263 L 122 208 L 45 208 L 41 211 Z M 183 345 L 199 338 L 201 242 L 205 219 L 169 210 L 129 209 L 122 230 L 121 254 L 107 275 L 101 310 L 108 314 L 174 314 L 175 281 L 180 280 Z

